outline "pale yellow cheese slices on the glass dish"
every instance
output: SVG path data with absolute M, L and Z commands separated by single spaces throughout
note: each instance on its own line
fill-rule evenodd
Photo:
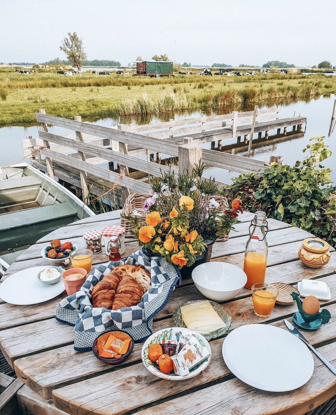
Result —
M 225 327 L 224 321 L 207 300 L 184 305 L 180 310 L 187 328 L 200 334 L 211 333 Z

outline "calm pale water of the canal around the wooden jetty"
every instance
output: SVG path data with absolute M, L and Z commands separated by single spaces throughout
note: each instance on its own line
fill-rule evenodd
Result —
M 268 161 L 270 155 L 280 154 L 283 156 L 284 163 L 293 165 L 295 161 L 301 160 L 304 157 L 302 149 L 308 144 L 310 137 L 326 136 L 325 142 L 329 145 L 329 149 L 333 151 L 333 155 L 324 161 L 324 166 L 332 169 L 332 178 L 336 181 L 336 127 L 331 137 L 328 137 L 331 112 L 334 105 L 335 95 L 330 97 L 320 97 L 309 101 L 308 103 L 299 101 L 290 105 L 282 106 L 281 117 L 292 117 L 294 115 L 302 115 L 307 117 L 307 129 L 303 137 L 286 137 L 280 139 L 272 139 L 272 135 L 276 131 L 270 131 L 270 138 L 264 145 L 253 149 L 252 158 Z M 198 117 L 202 115 L 201 112 L 194 112 L 189 115 L 175 115 L 175 119 L 185 119 L 190 117 Z M 159 122 L 161 120 L 155 117 L 151 119 L 151 123 Z M 142 124 L 146 124 L 149 120 L 143 120 Z M 103 125 L 106 127 L 116 126 L 119 120 L 103 119 L 94 122 L 93 124 Z M 303 129 L 304 130 L 304 129 Z M 50 132 L 55 134 L 71 134 L 72 132 L 66 129 L 51 127 Z M 26 136 L 31 135 L 33 138 L 38 137 L 37 126 L 33 127 L 3 127 L 0 128 L 0 144 L 2 151 L 0 152 L 0 166 L 7 166 L 15 163 L 23 157 L 21 140 Z M 256 134 L 257 137 L 257 134 Z M 285 141 L 280 141 L 285 140 Z M 237 143 L 237 139 L 226 139 L 222 142 L 222 147 Z M 241 143 L 243 144 L 243 143 Z M 210 143 L 204 146 L 210 148 Z M 246 149 L 236 149 L 236 154 L 241 156 L 246 155 Z M 24 161 L 27 161 L 24 160 Z M 237 173 L 228 172 L 222 169 L 209 168 L 206 172 L 207 176 L 214 176 L 218 181 L 229 182 L 230 178 L 237 176 Z

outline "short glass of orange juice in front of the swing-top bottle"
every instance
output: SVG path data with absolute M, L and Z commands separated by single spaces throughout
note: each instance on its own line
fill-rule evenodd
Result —
M 254 314 L 258 317 L 269 317 L 279 294 L 278 288 L 272 284 L 257 283 L 251 288 Z

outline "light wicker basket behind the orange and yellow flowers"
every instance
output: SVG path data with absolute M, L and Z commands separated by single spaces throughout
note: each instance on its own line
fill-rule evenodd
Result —
M 146 212 L 142 209 L 144 206 L 144 203 L 147 198 L 149 198 L 151 195 L 145 194 L 145 193 L 133 193 L 128 196 L 126 199 L 126 202 L 124 204 L 124 207 L 122 209 L 122 212 L 120 214 L 121 219 L 121 226 L 123 226 L 126 229 L 125 235 L 131 235 L 131 231 L 133 229 L 133 224 L 131 222 L 131 219 L 136 217 L 138 221 L 141 223 L 141 225 L 146 225 Z M 224 196 L 205 196 L 206 203 L 209 203 L 208 201 L 212 198 L 219 203 L 219 207 L 217 207 L 216 212 L 217 213 L 223 213 L 225 210 L 229 209 L 229 204 L 227 202 L 226 197 Z M 141 215 L 134 215 L 134 210 L 138 210 Z M 222 237 L 217 238 L 217 241 L 219 242 L 225 242 L 229 239 L 229 235 L 224 234 Z

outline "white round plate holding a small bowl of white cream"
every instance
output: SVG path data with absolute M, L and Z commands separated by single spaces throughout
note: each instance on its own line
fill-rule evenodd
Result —
M 65 290 L 62 278 L 56 284 L 47 285 L 37 279 L 37 273 L 47 266 L 34 266 L 10 275 L 0 284 L 0 298 L 6 303 L 31 305 L 57 297 Z

